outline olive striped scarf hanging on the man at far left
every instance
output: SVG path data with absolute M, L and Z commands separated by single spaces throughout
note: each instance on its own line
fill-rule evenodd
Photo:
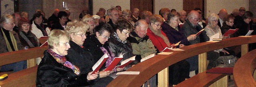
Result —
M 3 33 L 3 35 L 4 35 L 4 40 L 5 40 L 5 42 L 6 42 L 8 52 L 12 52 L 12 51 L 14 51 L 14 50 L 15 50 L 15 51 L 18 51 L 17 42 L 16 42 L 16 40 L 15 40 L 14 35 L 12 34 L 12 32 L 9 31 L 9 35 L 10 35 L 10 38 L 11 38 L 11 41 L 12 41 L 12 45 L 13 45 L 14 50 L 12 50 L 12 47 L 11 47 L 11 45 L 10 45 L 10 43 L 9 43 L 9 41 L 8 41 L 8 39 L 7 39 L 6 35 L 5 35 L 5 33 L 4 33 L 3 29 L 2 29 L 2 27 L 1 27 L 1 31 L 2 31 L 2 33 Z

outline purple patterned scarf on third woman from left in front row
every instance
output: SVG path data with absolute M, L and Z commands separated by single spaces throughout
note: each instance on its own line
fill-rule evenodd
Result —
M 109 48 L 109 46 L 108 46 L 108 49 L 110 49 Z M 111 50 L 109 50 L 110 52 L 108 52 L 108 50 L 106 50 L 106 48 L 104 48 L 104 47 L 100 47 L 100 50 L 102 50 L 102 52 L 104 53 L 104 54 L 106 54 L 107 53 L 107 55 L 108 55 L 108 60 L 106 61 L 106 68 L 111 64 L 111 62 L 114 60 L 114 58 L 115 58 L 115 56 L 114 56 L 114 54 L 111 52 Z M 109 54 L 110 53 L 110 54 Z M 111 55 L 111 56 L 110 56 Z M 114 68 L 114 71 L 116 71 L 116 68 Z

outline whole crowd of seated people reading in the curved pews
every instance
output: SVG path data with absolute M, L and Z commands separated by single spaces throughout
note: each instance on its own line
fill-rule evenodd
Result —
M 162 8 L 159 14 L 149 11 L 140 13 L 134 10 L 121 10 L 120 6 L 107 10 L 100 8 L 96 15 L 83 10 L 80 20 L 70 20 L 68 10 L 54 10 L 48 18 L 41 10 L 36 10 L 31 20 L 27 13 L 2 15 L 0 19 L 0 53 L 39 47 L 40 37 L 48 37 L 49 49 L 44 51 L 44 57 L 37 58 L 38 72 L 36 86 L 92 86 L 105 87 L 118 75 L 142 58 L 150 54 L 167 52 L 173 44 L 176 48 L 210 41 L 210 37 L 219 34 L 220 39 L 246 35 L 249 30 L 255 30 L 252 25 L 253 14 L 241 7 L 232 14 L 222 9 L 218 14 L 208 17 L 208 24 L 202 17 L 202 10 L 196 8 L 188 14 L 186 11 Z M 140 16 L 139 16 L 140 15 Z M 239 30 L 228 37 L 223 37 L 229 29 Z M 200 35 L 196 35 L 204 29 Z M 252 32 L 255 35 L 256 31 Z M 249 45 L 249 50 L 255 49 L 255 44 Z M 108 59 L 94 74 L 92 66 L 107 54 Z M 123 68 L 105 71 L 115 57 L 123 55 L 122 61 L 135 57 L 135 61 Z M 207 52 L 209 60 L 207 69 L 218 66 L 220 56 L 238 56 L 239 47 L 222 48 Z M 7 64 L 0 67 L 0 72 L 18 72 L 26 69 L 26 61 Z M 190 78 L 190 72 L 198 73 L 198 56 L 193 56 L 169 66 L 169 84 L 172 86 Z M 156 87 L 156 75 L 145 85 Z

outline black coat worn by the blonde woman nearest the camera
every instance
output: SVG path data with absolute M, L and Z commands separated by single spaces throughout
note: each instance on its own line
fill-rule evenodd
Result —
M 76 75 L 72 69 L 58 63 L 51 54 L 44 51 L 36 74 L 36 87 L 78 87 L 94 83 L 88 81 L 88 73 Z

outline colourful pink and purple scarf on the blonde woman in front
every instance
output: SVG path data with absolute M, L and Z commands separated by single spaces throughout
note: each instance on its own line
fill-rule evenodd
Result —
M 80 70 L 77 66 L 71 64 L 70 62 L 66 61 L 66 57 L 65 56 L 60 56 L 59 54 L 56 54 L 55 52 L 53 52 L 50 48 L 47 50 L 48 53 L 50 53 L 53 58 L 60 64 L 70 68 L 73 70 L 73 72 L 76 74 L 76 75 L 79 75 L 80 74 Z

